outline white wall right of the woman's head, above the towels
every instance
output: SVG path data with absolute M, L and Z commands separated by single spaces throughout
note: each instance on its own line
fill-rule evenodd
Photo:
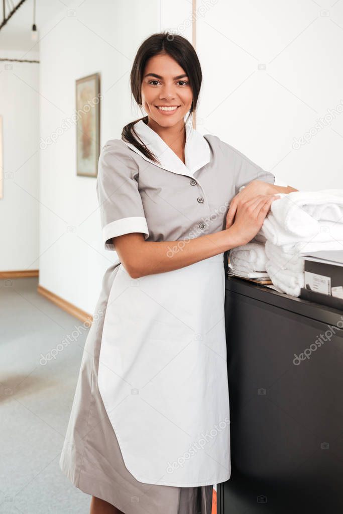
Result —
M 327 109 L 343 109 L 343 2 L 201 5 L 209 8 L 197 19 L 204 76 L 198 130 L 296 189 L 343 188 L 343 114 L 323 119 Z M 309 132 L 308 143 L 296 144 Z

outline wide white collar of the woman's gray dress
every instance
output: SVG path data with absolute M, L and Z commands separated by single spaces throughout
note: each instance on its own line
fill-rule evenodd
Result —
M 140 152 L 134 144 L 124 141 L 129 148 L 137 152 L 148 162 L 155 164 L 163 170 L 178 173 L 180 175 L 193 175 L 197 170 L 205 166 L 211 160 L 211 150 L 207 140 L 195 128 L 186 125 L 185 161 L 186 164 L 176 155 L 175 152 L 163 141 L 163 139 L 152 128 L 139 120 L 134 125 L 135 132 L 161 162 L 158 164 Z

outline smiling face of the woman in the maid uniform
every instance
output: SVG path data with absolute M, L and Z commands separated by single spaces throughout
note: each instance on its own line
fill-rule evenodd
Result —
M 142 81 L 142 105 L 149 119 L 161 126 L 172 126 L 190 109 L 192 88 L 185 71 L 170 56 L 160 54 L 151 57 L 145 66 Z M 159 107 L 176 107 L 161 110 Z

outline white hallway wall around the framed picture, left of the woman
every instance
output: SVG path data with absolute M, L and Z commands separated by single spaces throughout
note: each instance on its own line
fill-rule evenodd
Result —
M 41 42 L 41 137 L 75 109 L 75 80 L 101 74 L 101 146 L 120 138 L 130 110 L 129 74 L 141 42 L 158 30 L 155 0 L 72 2 L 46 25 Z M 96 178 L 76 175 L 75 127 L 40 152 L 40 284 L 92 313 L 104 271 L 117 254 L 102 249 Z M 69 226 L 75 232 L 68 233 Z

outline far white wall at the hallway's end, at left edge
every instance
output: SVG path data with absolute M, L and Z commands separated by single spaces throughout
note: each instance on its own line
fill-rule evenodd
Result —
M 22 51 L 0 57 L 22 59 Z M 38 60 L 30 52 L 24 59 Z M 39 268 L 39 64 L 0 61 L 4 182 L 0 271 Z

